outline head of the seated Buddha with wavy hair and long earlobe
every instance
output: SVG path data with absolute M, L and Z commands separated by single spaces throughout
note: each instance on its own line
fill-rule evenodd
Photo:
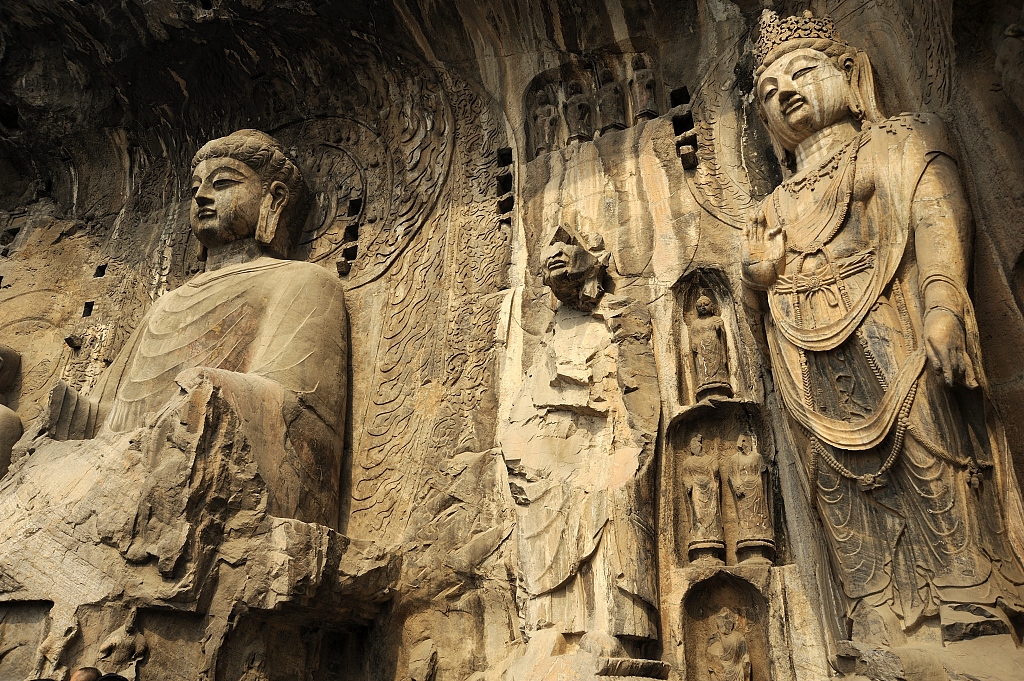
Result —
M 298 166 L 273 137 L 239 130 L 203 145 L 193 159 L 191 226 L 206 248 L 255 238 L 287 257 L 308 210 Z

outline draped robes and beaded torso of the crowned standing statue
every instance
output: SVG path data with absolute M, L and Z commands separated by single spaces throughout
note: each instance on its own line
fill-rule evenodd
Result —
M 1020 493 L 963 286 L 982 388 L 949 388 L 926 361 L 929 272 L 916 258 L 913 206 L 927 201 L 939 207 L 927 219 L 952 219 L 943 203 L 961 199 L 952 164 L 938 119 L 901 115 L 865 126 L 825 161 L 811 199 L 783 185 L 765 210 L 787 236 L 783 273 L 768 289 L 772 373 L 799 426 L 848 612 L 861 601 L 885 606 L 903 629 L 942 603 L 1024 607 Z M 950 239 L 970 239 L 958 229 L 950 224 Z M 866 477 L 851 479 L 837 463 Z

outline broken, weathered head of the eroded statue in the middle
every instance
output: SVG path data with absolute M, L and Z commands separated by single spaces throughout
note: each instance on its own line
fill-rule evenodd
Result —
M 570 232 L 568 226 L 559 227 L 541 254 L 541 275 L 558 300 L 575 309 L 593 309 L 604 293 L 602 280 L 610 254 L 600 236 L 585 246 Z

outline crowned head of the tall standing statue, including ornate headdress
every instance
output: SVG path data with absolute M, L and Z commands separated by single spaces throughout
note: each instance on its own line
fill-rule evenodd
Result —
M 846 119 L 881 122 L 867 54 L 842 41 L 828 17 L 779 19 L 766 9 L 754 49 L 758 112 L 779 160 L 819 130 Z

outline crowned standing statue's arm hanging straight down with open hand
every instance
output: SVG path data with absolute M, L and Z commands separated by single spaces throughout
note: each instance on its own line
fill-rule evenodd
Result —
M 939 155 L 925 170 L 910 212 L 925 303 L 925 348 L 929 364 L 946 384 L 977 387 L 967 352 L 964 314 L 971 215 L 952 159 Z

